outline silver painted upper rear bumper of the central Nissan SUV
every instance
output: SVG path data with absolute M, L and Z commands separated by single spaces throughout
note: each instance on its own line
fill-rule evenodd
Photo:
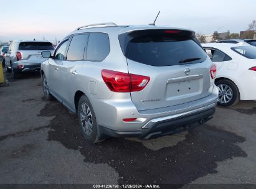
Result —
M 214 86 L 211 95 L 185 104 L 178 104 L 165 108 L 138 111 L 131 99 L 116 101 L 112 99 L 92 99 L 93 109 L 97 115 L 99 126 L 107 127 L 113 131 L 141 131 L 149 129 L 154 123 L 163 119 L 176 119 L 197 113 L 202 110 L 215 108 L 217 104 L 218 89 Z M 116 94 L 117 95 L 117 94 Z M 121 95 L 121 94 L 118 94 Z M 211 106 L 209 108 L 209 106 Z M 137 118 L 135 121 L 125 122 L 125 118 Z

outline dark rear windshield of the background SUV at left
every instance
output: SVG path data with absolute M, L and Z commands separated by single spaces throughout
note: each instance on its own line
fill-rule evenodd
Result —
M 54 50 L 50 42 L 21 42 L 19 50 Z

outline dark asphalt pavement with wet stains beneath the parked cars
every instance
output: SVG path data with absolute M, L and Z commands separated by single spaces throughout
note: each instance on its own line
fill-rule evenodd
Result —
M 77 118 L 43 98 L 40 75 L 0 88 L 0 183 L 256 184 L 256 101 L 149 141 L 83 140 Z

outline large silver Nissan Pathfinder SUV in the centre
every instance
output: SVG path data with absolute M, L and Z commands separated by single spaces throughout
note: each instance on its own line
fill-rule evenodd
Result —
M 86 25 L 42 57 L 45 97 L 77 113 L 90 142 L 174 134 L 215 112 L 216 67 L 191 30 Z

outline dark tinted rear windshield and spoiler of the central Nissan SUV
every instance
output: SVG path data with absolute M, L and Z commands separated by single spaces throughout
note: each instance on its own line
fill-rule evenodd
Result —
M 136 30 L 119 35 L 126 58 L 155 67 L 203 62 L 207 55 L 186 30 Z

